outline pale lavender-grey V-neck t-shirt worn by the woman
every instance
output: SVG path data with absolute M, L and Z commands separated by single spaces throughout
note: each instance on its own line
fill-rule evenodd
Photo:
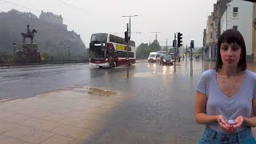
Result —
M 242 82 L 240 90 L 232 98 L 226 97 L 218 87 L 216 70 L 206 70 L 202 73 L 196 87 L 198 92 L 206 94 L 206 114 L 222 114 L 226 120 L 243 117 L 253 117 L 252 99 L 256 98 L 256 73 L 246 70 L 246 77 Z M 211 129 L 226 133 L 218 122 L 207 124 Z M 245 130 L 247 126 L 241 126 L 238 131 Z

